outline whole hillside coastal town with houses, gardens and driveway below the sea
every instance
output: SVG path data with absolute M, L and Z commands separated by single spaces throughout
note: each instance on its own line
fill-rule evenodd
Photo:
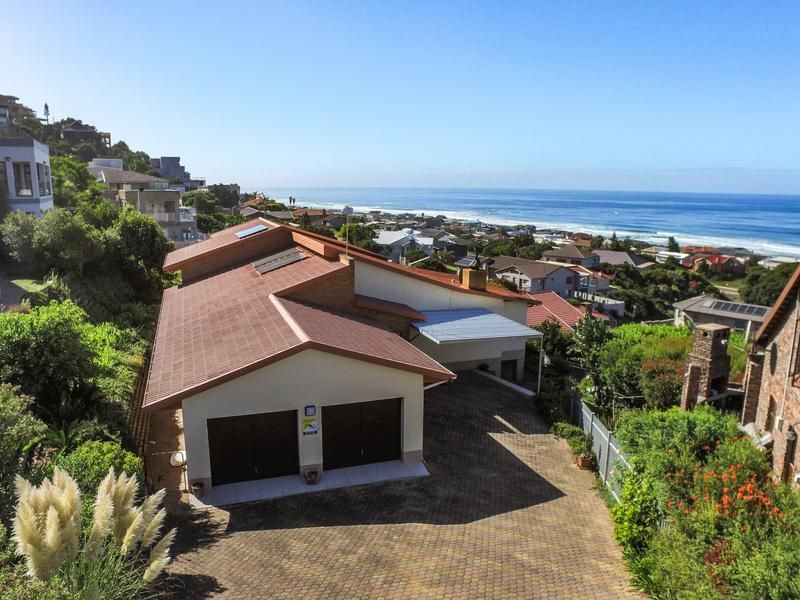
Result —
M 112 134 L 0 95 L 3 598 L 800 594 L 796 258 Z

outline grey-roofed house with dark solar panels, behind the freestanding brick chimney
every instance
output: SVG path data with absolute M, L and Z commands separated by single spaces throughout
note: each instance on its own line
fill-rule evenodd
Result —
M 672 305 L 675 309 L 674 323 L 695 326 L 705 323 L 724 325 L 736 331 L 744 331 L 749 337 L 765 321 L 769 306 L 729 302 L 712 296 L 695 296 Z

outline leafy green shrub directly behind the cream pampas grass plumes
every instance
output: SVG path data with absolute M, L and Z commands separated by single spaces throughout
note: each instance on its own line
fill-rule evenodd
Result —
M 117 473 L 142 479 L 141 459 L 116 442 L 84 442 L 73 452 L 55 459 L 55 465 L 72 475 L 81 490 L 93 491 L 113 467 Z

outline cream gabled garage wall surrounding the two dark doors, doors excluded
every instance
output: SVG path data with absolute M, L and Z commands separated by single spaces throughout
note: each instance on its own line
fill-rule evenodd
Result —
M 296 409 L 301 469 L 321 468 L 321 406 L 403 398 L 403 456 L 422 455 L 422 375 L 305 350 L 183 400 L 189 482 L 211 488 L 207 419 Z M 315 405 L 320 432 L 302 435 L 303 407 Z

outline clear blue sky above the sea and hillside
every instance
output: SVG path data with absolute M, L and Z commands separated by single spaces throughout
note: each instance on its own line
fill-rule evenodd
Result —
M 213 181 L 800 193 L 798 2 L 2 13 L 0 93 Z

